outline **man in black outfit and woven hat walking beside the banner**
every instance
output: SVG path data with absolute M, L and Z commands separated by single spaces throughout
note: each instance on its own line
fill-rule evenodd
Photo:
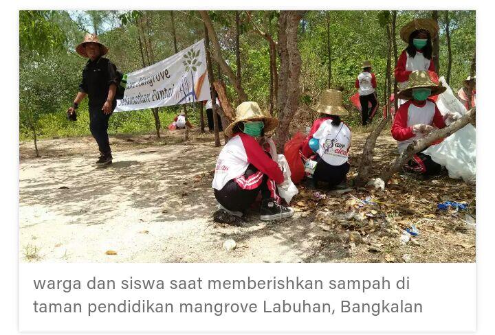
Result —
M 95 34 L 87 34 L 83 43 L 76 47 L 76 52 L 89 60 L 83 69 L 83 80 L 74 104 L 67 110 L 69 116 L 74 115 L 80 102 L 88 96 L 89 129 L 100 150 L 100 159 L 96 161 L 98 166 L 112 162 L 107 130 L 110 115 L 117 105 L 115 92 L 119 83 L 117 68 L 103 57 L 108 51 Z

